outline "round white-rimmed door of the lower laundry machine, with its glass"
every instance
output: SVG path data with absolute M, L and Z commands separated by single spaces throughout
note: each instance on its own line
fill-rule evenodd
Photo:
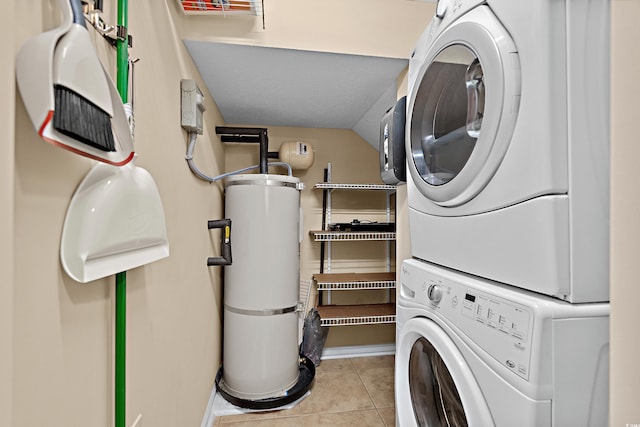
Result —
M 402 327 L 396 354 L 396 410 L 402 426 L 493 425 L 480 387 L 465 359 L 432 320 Z

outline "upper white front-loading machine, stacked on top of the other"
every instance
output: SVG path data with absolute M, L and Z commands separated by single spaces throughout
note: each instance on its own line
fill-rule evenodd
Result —
M 609 300 L 608 0 L 440 0 L 409 62 L 412 255 Z

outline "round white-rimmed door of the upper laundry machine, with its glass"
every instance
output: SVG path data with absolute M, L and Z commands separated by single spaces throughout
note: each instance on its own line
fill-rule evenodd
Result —
M 408 99 L 407 153 L 416 186 L 441 206 L 471 200 L 507 151 L 520 100 L 516 47 L 487 6 L 436 36 Z

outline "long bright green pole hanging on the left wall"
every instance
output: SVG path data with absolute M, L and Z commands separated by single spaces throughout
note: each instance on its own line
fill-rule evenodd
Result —
M 118 34 L 124 39 L 116 41 L 116 87 L 126 103 L 129 88 L 129 40 L 127 36 L 127 0 L 118 0 Z M 124 31 L 123 31 L 124 30 Z M 115 427 L 126 423 L 126 361 L 127 361 L 127 273 L 116 274 L 116 320 L 115 320 Z

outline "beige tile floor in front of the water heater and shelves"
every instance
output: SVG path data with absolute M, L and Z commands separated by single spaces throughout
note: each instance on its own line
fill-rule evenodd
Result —
M 216 427 L 395 426 L 394 356 L 323 360 L 311 394 L 281 411 L 216 417 Z

